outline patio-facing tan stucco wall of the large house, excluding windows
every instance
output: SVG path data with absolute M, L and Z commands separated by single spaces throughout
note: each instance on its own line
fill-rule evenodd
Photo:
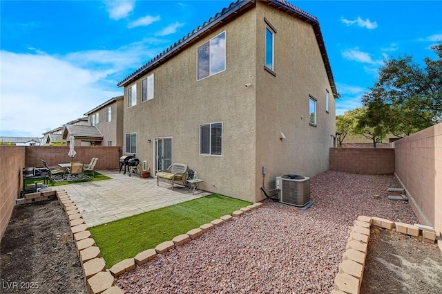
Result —
M 224 30 L 226 71 L 197 81 L 197 47 Z M 255 54 L 254 46 L 243 46 L 255 43 L 254 30 L 249 11 L 155 68 L 153 100 L 141 102 L 147 75 L 137 80 L 137 105 L 125 109 L 124 134 L 137 133 L 137 158 L 147 160 L 151 170 L 155 138 L 172 137 L 173 162 L 197 171 L 204 190 L 254 201 L 254 93 L 244 85 L 253 78 Z M 223 124 L 222 156 L 199 155 L 200 124 L 210 122 Z

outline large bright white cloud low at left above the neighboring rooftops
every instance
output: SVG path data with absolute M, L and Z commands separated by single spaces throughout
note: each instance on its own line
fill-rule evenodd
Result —
M 151 43 L 59 56 L 0 50 L 1 136 L 41 137 L 122 95 L 117 82 L 160 52 Z

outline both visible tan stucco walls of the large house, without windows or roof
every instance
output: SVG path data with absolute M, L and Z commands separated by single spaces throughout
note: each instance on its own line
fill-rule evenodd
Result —
M 173 162 L 197 171 L 202 189 L 247 201 L 263 198 L 262 165 L 271 181 L 288 172 L 313 176 L 328 168 L 335 107 L 313 30 L 284 12 L 257 6 L 140 77 L 135 107 L 126 108 L 132 84 L 126 86 L 124 134 L 137 133 L 137 158 L 147 160 L 151 170 L 160 137 L 173 138 Z M 278 29 L 276 77 L 263 69 L 264 17 Z M 197 81 L 197 47 L 224 30 L 226 71 Z M 155 98 L 142 103 L 141 81 L 151 73 Z M 318 100 L 318 127 L 309 126 L 309 94 Z M 199 155 L 200 124 L 209 122 L 223 123 L 222 156 Z M 286 140 L 279 140 L 280 131 Z

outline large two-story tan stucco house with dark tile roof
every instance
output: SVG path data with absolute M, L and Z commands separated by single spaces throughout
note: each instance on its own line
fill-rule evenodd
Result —
M 329 168 L 339 95 L 318 20 L 287 1 L 231 3 L 118 86 L 124 151 L 153 174 L 186 163 L 203 190 L 253 202 Z

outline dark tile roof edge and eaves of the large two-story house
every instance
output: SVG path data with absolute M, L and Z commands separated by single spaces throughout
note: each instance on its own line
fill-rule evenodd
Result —
M 179 53 L 180 50 L 183 50 L 184 48 L 193 44 L 193 42 L 196 42 L 202 34 L 215 28 L 216 26 L 222 26 L 226 21 L 230 19 L 238 17 L 238 15 L 240 15 L 240 13 L 238 12 L 253 7 L 255 5 L 255 2 L 256 0 L 238 0 L 234 3 L 231 3 L 229 7 L 223 8 L 221 12 L 218 12 L 214 17 L 211 17 L 208 21 L 205 21 L 204 24 L 198 26 L 198 28 L 195 28 L 195 30 L 193 30 L 191 33 L 182 37 L 182 39 L 178 40 L 178 42 L 175 42 L 175 44 L 155 56 L 153 59 L 151 59 L 151 61 L 147 62 L 142 67 L 138 68 L 136 71 L 128 75 L 128 77 L 119 82 L 117 86 L 126 86 L 126 84 L 133 82 L 133 80 L 136 80 L 138 77 L 140 77 L 140 75 L 144 75 L 148 71 L 151 71 L 153 68 L 162 64 L 163 62 L 166 62 L 166 60 L 173 57 L 173 55 Z M 323 56 L 325 71 L 327 71 L 330 86 L 332 87 L 332 93 L 335 98 L 339 98 L 340 95 L 338 93 L 338 90 L 336 89 L 332 68 L 330 66 L 327 51 L 325 50 L 323 34 L 320 31 L 318 19 L 285 0 L 265 0 L 265 2 L 269 3 L 270 6 L 278 8 L 279 10 L 285 10 L 285 12 L 293 15 L 294 17 L 302 19 L 302 21 L 308 22 L 309 24 L 311 24 L 311 26 L 313 26 L 316 41 L 318 42 L 320 53 Z

